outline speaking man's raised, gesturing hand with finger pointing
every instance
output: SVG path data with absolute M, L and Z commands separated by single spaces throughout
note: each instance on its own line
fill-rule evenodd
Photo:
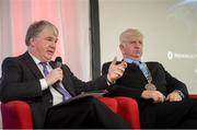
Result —
M 116 64 L 116 61 L 117 58 L 115 57 L 108 68 L 107 80 L 111 83 L 114 83 L 117 79 L 121 78 L 125 69 L 127 68 L 127 63 L 125 61 L 121 61 L 119 64 Z

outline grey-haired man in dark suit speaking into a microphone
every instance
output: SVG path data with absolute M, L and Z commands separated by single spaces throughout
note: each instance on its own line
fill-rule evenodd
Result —
M 34 128 L 129 128 L 121 117 L 94 97 L 65 103 L 81 92 L 111 87 L 107 82 L 120 78 L 127 63 L 114 61 L 106 75 L 83 82 L 68 66 L 51 61 L 57 37 L 57 27 L 47 21 L 35 22 L 28 27 L 27 51 L 5 58 L 2 63 L 0 99 L 27 102 Z

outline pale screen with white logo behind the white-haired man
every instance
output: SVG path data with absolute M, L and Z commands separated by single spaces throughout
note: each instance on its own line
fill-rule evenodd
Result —
M 102 64 L 114 56 L 120 60 L 119 34 L 138 28 L 144 35 L 142 60 L 161 62 L 197 93 L 197 1 L 100 0 L 100 20 Z

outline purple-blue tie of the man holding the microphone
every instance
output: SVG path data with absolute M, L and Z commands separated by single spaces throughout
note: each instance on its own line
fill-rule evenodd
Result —
M 48 70 L 47 70 L 47 63 L 46 62 L 40 62 L 40 64 L 43 66 L 43 72 L 45 74 L 45 76 L 49 73 Z M 71 97 L 71 95 L 69 94 L 69 92 L 65 88 L 62 88 L 59 84 L 54 86 L 54 88 L 56 91 L 58 91 L 62 97 L 63 97 L 63 101 L 67 101 Z

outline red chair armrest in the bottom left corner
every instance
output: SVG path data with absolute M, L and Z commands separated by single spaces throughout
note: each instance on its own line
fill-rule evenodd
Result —
M 33 129 L 31 107 L 22 101 L 1 104 L 3 129 Z

